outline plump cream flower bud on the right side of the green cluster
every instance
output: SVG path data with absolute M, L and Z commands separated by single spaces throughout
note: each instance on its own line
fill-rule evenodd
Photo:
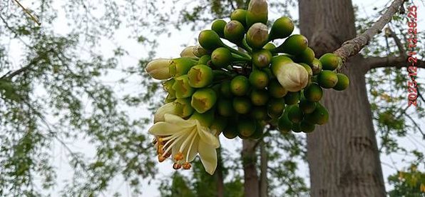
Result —
M 297 63 L 278 64 L 272 70 L 279 84 L 287 91 L 300 91 L 309 81 L 307 71 Z

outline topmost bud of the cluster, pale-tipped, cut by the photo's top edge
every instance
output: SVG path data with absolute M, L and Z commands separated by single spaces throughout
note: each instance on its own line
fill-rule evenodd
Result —
M 247 9 L 247 27 L 255 23 L 267 24 L 268 6 L 265 0 L 251 0 Z

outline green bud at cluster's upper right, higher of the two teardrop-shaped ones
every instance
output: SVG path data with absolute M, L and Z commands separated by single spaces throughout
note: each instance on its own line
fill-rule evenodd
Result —
M 294 31 L 294 22 L 292 22 L 290 17 L 281 17 L 273 23 L 269 40 L 285 39 L 292 34 L 292 31 Z

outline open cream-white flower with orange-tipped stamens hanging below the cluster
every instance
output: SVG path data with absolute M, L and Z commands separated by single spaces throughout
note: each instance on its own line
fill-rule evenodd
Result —
M 201 125 L 196 118 L 185 120 L 173 114 L 165 114 L 165 121 L 155 123 L 149 133 L 155 135 L 158 160 L 172 156 L 173 168 L 190 168 L 190 162 L 199 153 L 205 171 L 213 174 L 217 167 L 216 148 L 220 141 L 210 128 Z

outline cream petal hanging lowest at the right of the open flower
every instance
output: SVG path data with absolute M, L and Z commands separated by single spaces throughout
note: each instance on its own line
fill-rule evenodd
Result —
M 198 146 L 200 161 L 203 163 L 205 171 L 213 175 L 215 168 L 217 168 L 217 151 L 213 146 L 200 141 Z

